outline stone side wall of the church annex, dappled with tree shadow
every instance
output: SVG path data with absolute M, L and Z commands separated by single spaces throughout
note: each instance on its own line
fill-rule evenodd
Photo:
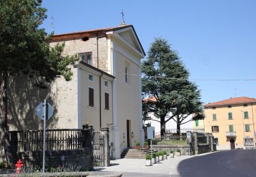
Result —
M 72 71 L 69 82 L 61 76 L 45 83 L 45 88 L 36 86 L 36 78 L 11 78 L 8 86 L 10 131 L 42 129 L 43 121 L 35 115 L 35 107 L 45 98 L 54 108 L 53 117 L 46 121 L 47 129 L 81 128 L 77 120 L 77 68 L 72 67 Z

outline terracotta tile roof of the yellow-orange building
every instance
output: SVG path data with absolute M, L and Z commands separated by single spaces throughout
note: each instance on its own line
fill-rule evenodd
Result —
M 249 98 L 249 97 L 236 97 L 236 98 L 225 99 L 223 101 L 217 101 L 214 103 L 208 103 L 208 104 L 205 104 L 204 107 L 224 106 L 224 105 L 231 105 L 231 104 L 238 104 L 238 103 L 256 103 L 256 99 Z

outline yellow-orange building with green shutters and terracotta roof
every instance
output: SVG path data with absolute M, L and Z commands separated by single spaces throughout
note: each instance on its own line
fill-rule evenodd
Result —
M 256 99 L 235 97 L 204 105 L 204 120 L 193 127 L 204 127 L 214 135 L 217 149 L 255 148 Z

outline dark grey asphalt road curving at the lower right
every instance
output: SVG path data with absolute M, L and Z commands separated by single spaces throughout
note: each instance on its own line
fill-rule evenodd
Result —
M 227 150 L 181 161 L 180 177 L 255 177 L 256 150 Z

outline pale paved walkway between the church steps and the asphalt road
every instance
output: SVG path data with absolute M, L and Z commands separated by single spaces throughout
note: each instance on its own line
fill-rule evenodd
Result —
M 211 153 L 211 152 L 210 152 Z M 208 155 L 209 153 L 201 154 Z M 199 156 L 199 155 L 197 155 Z M 100 171 L 122 172 L 123 176 L 136 176 L 135 174 L 145 174 L 141 176 L 180 176 L 177 172 L 177 165 L 184 159 L 193 158 L 193 156 L 181 156 L 165 159 L 152 166 L 145 166 L 145 159 L 117 159 L 111 161 L 110 167 L 100 167 Z M 147 175 L 146 175 L 147 174 Z

